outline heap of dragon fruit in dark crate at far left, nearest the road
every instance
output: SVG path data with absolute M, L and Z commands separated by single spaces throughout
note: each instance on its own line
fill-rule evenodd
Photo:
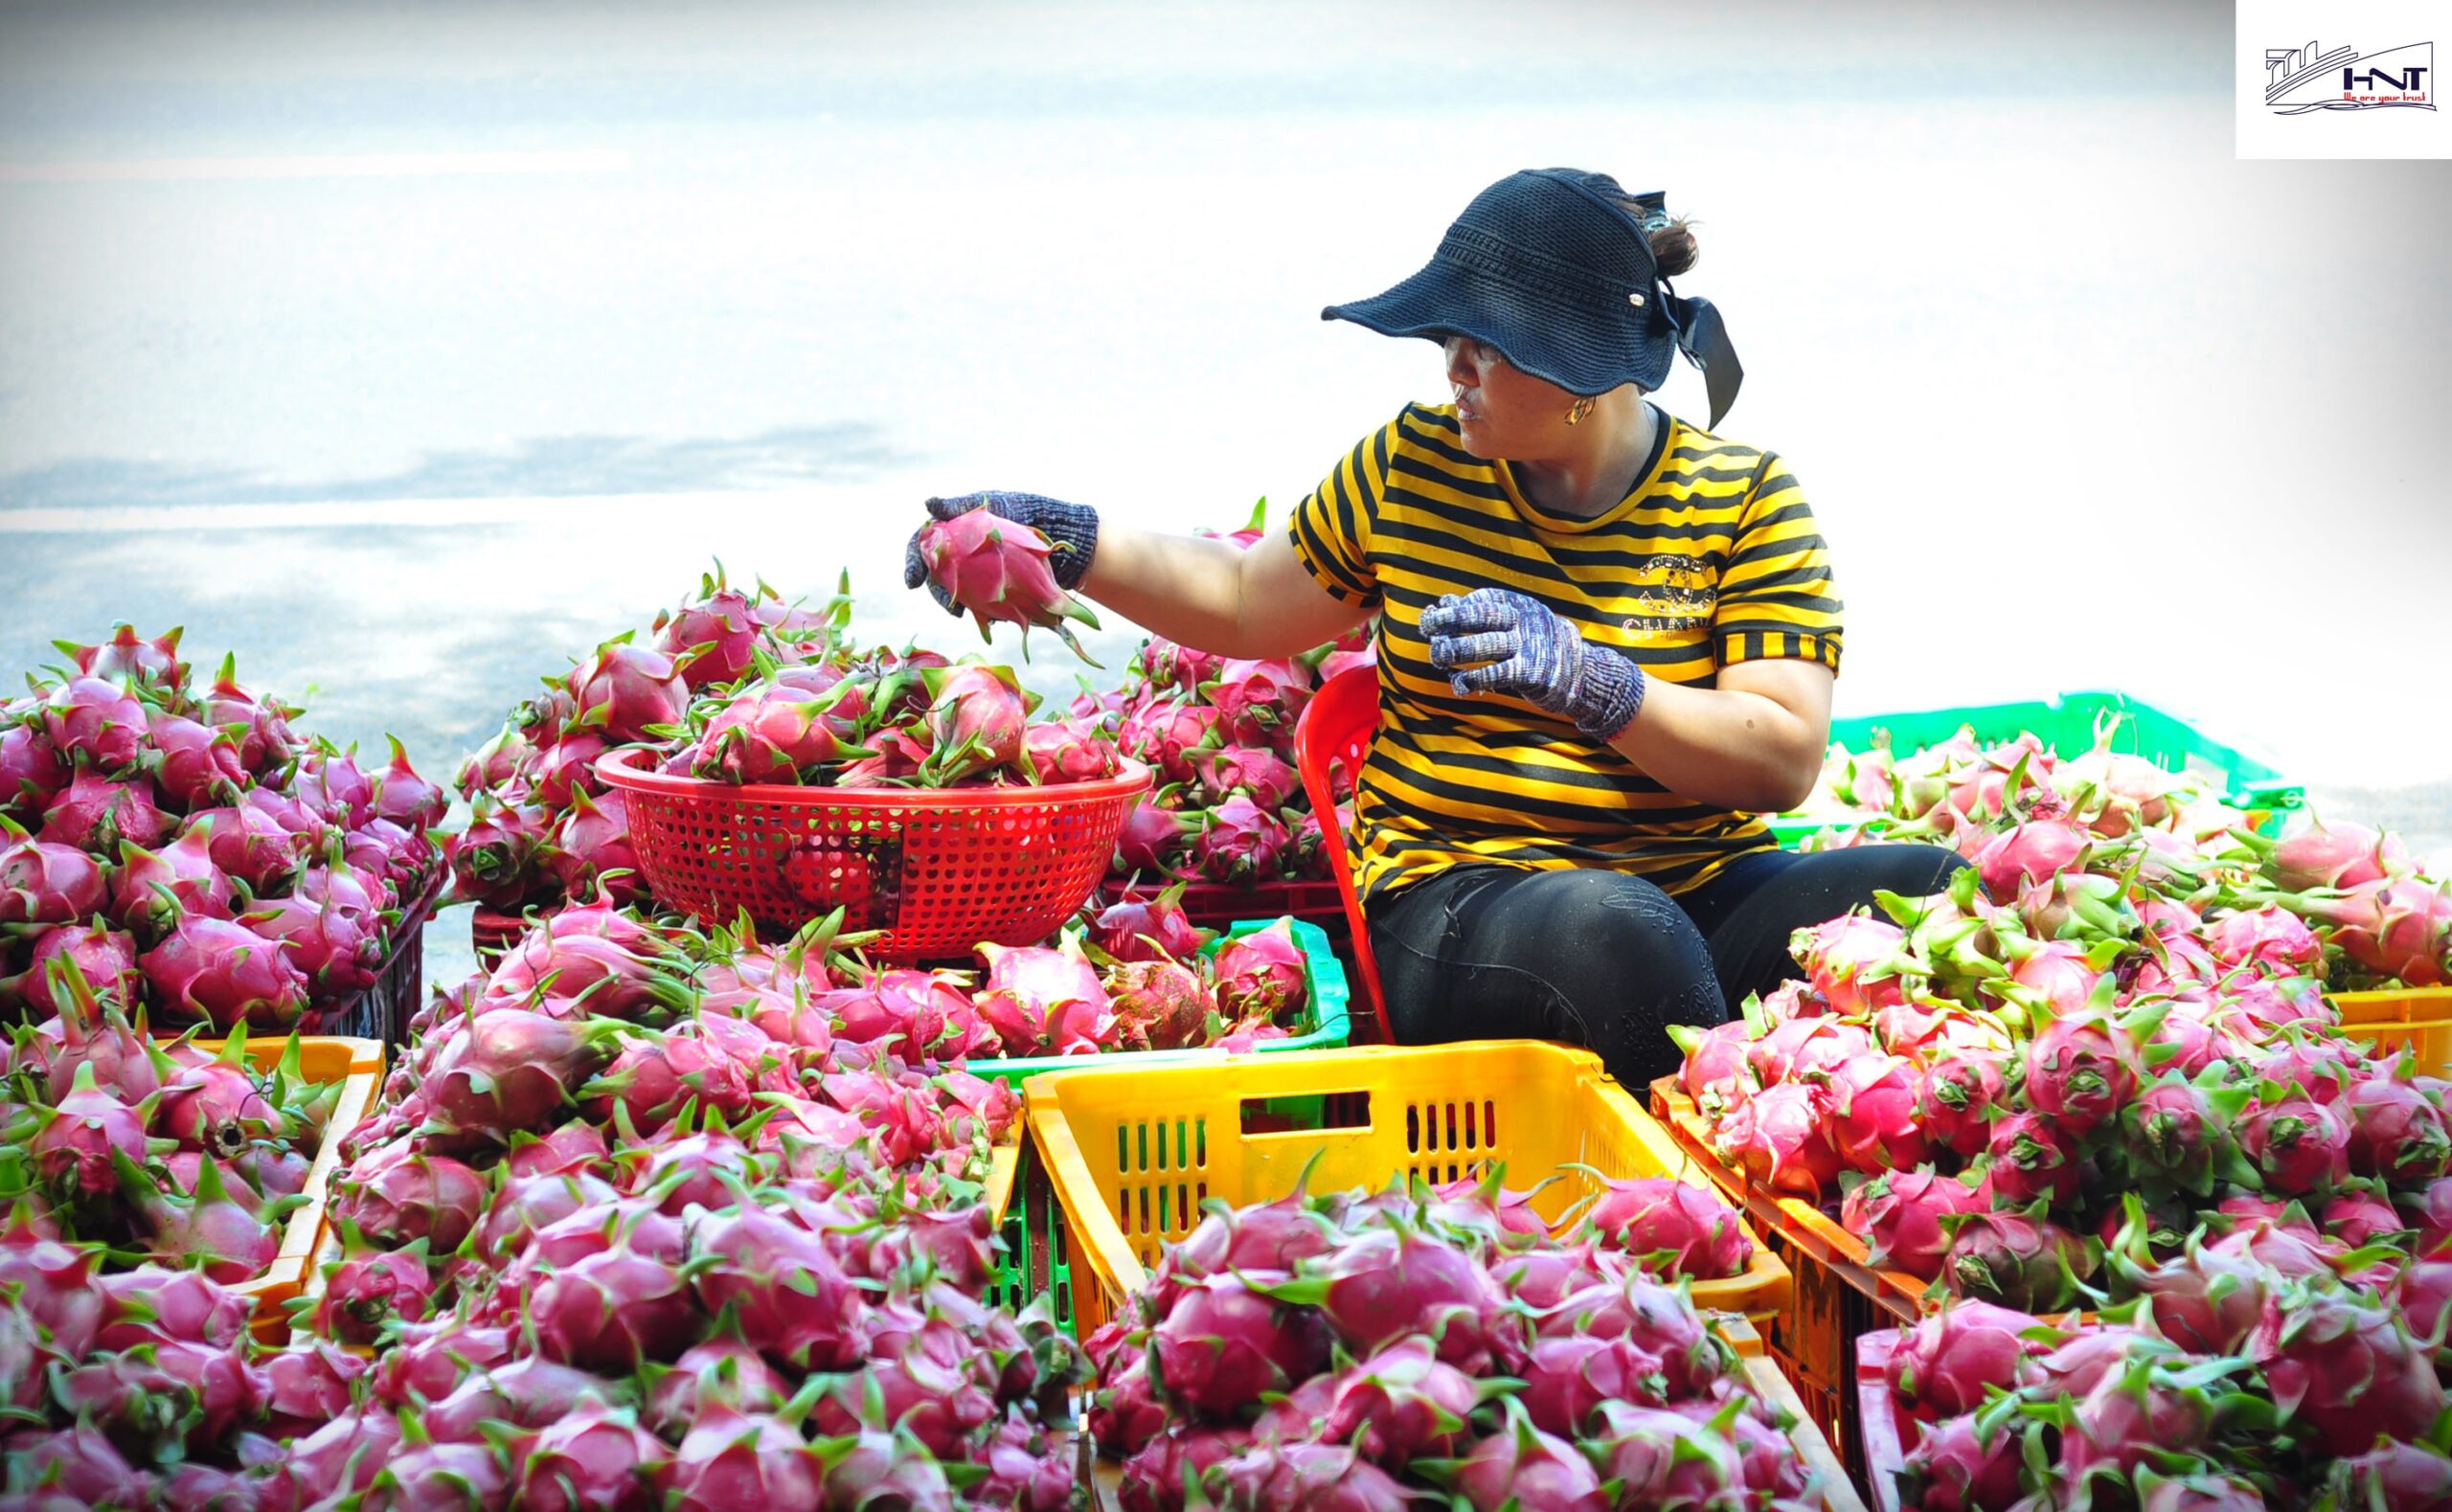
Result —
M 375 983 L 444 855 L 449 796 L 400 743 L 380 772 L 179 632 L 120 625 L 0 706 L 0 1005 L 59 1007 L 74 968 L 154 1024 L 314 1032 Z

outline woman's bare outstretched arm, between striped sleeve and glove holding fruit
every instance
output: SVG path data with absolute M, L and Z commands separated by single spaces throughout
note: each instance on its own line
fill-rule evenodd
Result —
M 1219 657 L 1292 657 L 1376 613 L 1312 581 L 1285 532 L 1263 534 L 1243 551 L 1233 542 L 1101 522 L 1098 551 L 1079 591 L 1177 644 Z

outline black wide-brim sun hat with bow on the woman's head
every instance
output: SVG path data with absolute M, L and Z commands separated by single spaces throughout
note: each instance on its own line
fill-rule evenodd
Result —
M 1685 350 L 1702 368 L 1716 426 L 1743 380 L 1729 331 L 1709 299 L 1670 289 L 1643 221 L 1618 198 L 1667 218 L 1662 194 L 1628 196 L 1609 174 L 1508 174 L 1464 206 L 1422 272 L 1319 319 L 1380 336 L 1486 341 L 1572 395 L 1626 382 L 1658 390 Z

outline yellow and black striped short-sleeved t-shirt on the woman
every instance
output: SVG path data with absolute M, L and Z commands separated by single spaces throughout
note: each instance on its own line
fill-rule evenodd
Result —
M 1452 404 L 1407 404 L 1302 500 L 1292 537 L 1322 588 L 1380 610 L 1380 720 L 1354 796 L 1366 897 L 1456 863 L 1613 868 L 1682 892 L 1770 845 L 1761 818 L 1680 799 L 1557 716 L 1459 698 L 1422 610 L 1515 588 L 1648 676 L 1709 686 L 1761 657 L 1837 671 L 1839 593 L 1775 453 L 1667 419 L 1633 493 L 1574 520 L 1466 453 Z

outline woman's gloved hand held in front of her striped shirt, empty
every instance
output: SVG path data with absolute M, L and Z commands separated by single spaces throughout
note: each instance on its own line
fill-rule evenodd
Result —
M 1513 588 L 1447 593 L 1422 610 L 1430 664 L 1456 696 L 1508 694 L 1606 745 L 1643 708 L 1643 669 Z

